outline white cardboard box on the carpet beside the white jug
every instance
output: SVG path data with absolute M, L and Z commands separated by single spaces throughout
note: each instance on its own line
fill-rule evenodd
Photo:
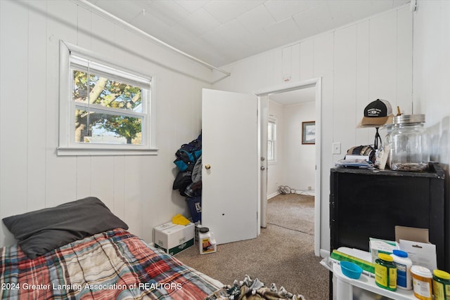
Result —
M 194 224 L 178 225 L 172 222 L 153 228 L 153 242 L 156 248 L 167 254 L 177 254 L 194 244 Z

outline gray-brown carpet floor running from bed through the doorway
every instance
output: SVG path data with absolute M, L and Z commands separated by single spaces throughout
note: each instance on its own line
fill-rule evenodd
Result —
M 314 255 L 314 197 L 271 198 L 267 222 L 256 239 L 219 244 L 217 252 L 203 255 L 195 244 L 175 257 L 224 284 L 250 275 L 307 300 L 328 299 L 328 270 Z

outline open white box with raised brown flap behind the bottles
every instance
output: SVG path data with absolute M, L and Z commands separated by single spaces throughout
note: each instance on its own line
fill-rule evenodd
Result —
M 399 249 L 408 253 L 413 265 L 431 271 L 437 269 L 436 245 L 430 243 L 428 229 L 395 226 L 395 242 Z

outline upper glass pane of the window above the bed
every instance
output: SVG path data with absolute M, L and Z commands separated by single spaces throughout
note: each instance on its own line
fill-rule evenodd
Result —
M 142 89 L 124 82 L 101 77 L 96 74 L 72 69 L 72 100 L 104 107 L 142 112 Z

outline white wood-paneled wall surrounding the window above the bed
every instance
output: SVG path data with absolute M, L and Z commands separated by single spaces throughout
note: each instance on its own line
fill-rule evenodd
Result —
M 158 156 L 56 155 L 60 39 L 156 76 Z M 200 133 L 210 77 L 72 1 L 0 1 L 0 218 L 96 196 L 152 242 L 154 226 L 187 212 L 172 162 Z M 12 242 L 1 223 L 0 246 Z

